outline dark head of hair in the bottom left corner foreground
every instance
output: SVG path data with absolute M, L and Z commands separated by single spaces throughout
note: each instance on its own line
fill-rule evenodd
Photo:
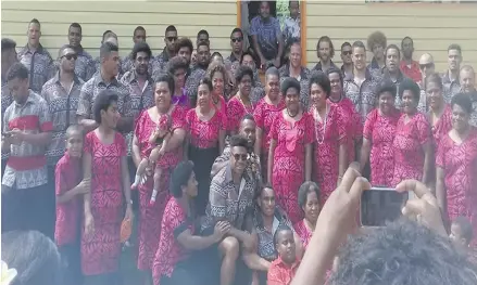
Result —
M 37 231 L 2 234 L 2 260 L 17 275 L 11 285 L 61 284 L 61 257 L 54 243 Z

